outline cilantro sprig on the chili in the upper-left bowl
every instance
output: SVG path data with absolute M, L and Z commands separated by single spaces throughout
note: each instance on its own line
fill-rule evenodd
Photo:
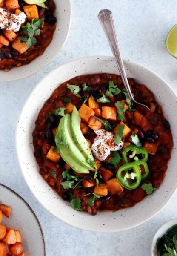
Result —
M 34 35 L 40 35 L 40 25 L 43 23 L 44 19 L 32 19 L 31 23 L 27 22 L 26 26 L 21 26 L 25 35 L 28 37 L 21 36 L 20 41 L 26 42 L 25 46 L 30 47 L 36 44 L 36 38 Z

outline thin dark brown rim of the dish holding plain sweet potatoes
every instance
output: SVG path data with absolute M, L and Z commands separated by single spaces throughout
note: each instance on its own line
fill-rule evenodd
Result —
M 26 206 L 29 208 L 29 210 L 31 211 L 31 213 L 33 214 L 33 216 L 34 216 L 34 218 L 36 219 L 37 224 L 38 224 L 38 226 L 39 226 L 39 228 L 40 228 L 40 233 L 41 233 L 42 241 L 43 241 L 44 256 L 46 256 L 46 242 L 45 242 L 45 237 L 44 237 L 44 233 L 43 233 L 42 226 L 41 226 L 41 224 L 40 224 L 39 219 L 38 219 L 37 216 L 36 216 L 36 213 L 34 213 L 34 210 L 31 208 L 31 206 L 30 206 L 30 205 L 25 201 L 25 199 L 23 199 L 23 197 L 20 196 L 17 192 L 15 192 L 15 191 L 12 190 L 10 187 L 7 187 L 6 185 L 4 185 L 4 184 L 2 184 L 2 183 L 0 183 L 0 186 L 6 188 L 6 189 L 9 190 L 11 193 L 13 193 L 15 196 L 17 196 L 18 198 L 20 198 L 20 199 L 23 201 L 23 203 L 25 203 Z

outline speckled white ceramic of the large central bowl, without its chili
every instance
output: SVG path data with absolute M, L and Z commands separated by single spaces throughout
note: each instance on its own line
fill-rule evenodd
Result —
M 171 87 L 160 76 L 140 64 L 124 60 L 128 78 L 137 83 L 146 84 L 154 92 L 158 103 L 163 105 L 166 118 L 171 124 L 174 149 L 177 147 L 177 96 Z M 48 74 L 29 96 L 21 113 L 17 127 L 16 143 L 20 167 L 26 183 L 37 200 L 50 213 L 66 223 L 85 230 L 115 232 L 135 227 L 158 213 L 168 202 L 177 188 L 177 158 L 174 150 L 168 164 L 166 178 L 152 196 L 147 196 L 134 207 L 117 212 L 98 212 L 91 216 L 85 212 L 77 212 L 69 203 L 63 201 L 44 181 L 34 158 L 32 132 L 34 122 L 44 102 L 61 83 L 77 76 L 91 73 L 117 73 L 117 66 L 112 57 L 93 56 L 73 60 L 58 67 Z

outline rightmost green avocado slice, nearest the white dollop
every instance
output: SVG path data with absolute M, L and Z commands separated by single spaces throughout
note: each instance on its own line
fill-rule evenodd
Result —
M 80 121 L 81 119 L 79 116 L 79 112 L 77 111 L 77 108 L 74 106 L 73 112 L 71 114 L 72 138 L 76 146 L 79 148 L 80 152 L 86 157 L 86 159 L 90 159 L 91 161 L 94 161 L 94 157 L 91 153 L 89 143 L 81 132 Z

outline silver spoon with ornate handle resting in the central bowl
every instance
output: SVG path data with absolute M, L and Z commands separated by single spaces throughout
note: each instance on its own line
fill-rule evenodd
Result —
M 128 84 L 128 80 L 127 80 L 127 77 L 126 77 L 126 72 L 125 72 L 125 69 L 124 69 L 124 66 L 123 66 L 123 60 L 122 60 L 122 57 L 120 55 L 120 48 L 119 48 L 119 43 L 118 43 L 118 40 L 117 40 L 117 35 L 116 35 L 115 26 L 114 26 L 114 20 L 113 20 L 112 12 L 107 10 L 107 9 L 103 9 L 99 12 L 98 19 L 100 20 L 101 26 L 102 26 L 102 28 L 105 32 L 108 43 L 111 47 L 112 53 L 114 55 L 114 59 L 117 63 L 117 67 L 119 69 L 120 75 L 121 75 L 122 80 L 123 80 L 123 84 L 124 84 L 124 86 L 127 90 L 130 101 L 134 102 L 138 109 L 140 109 L 142 111 L 150 111 L 148 106 L 135 101 L 135 99 L 134 99 L 134 97 L 131 93 L 131 89 L 130 89 L 130 86 Z

